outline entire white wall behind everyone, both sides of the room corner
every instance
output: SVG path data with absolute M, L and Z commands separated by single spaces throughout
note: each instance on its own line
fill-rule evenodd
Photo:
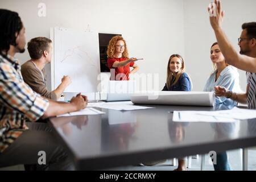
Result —
M 168 58 L 172 53 L 185 57 L 193 90 L 203 90 L 212 71 L 209 50 L 216 41 L 209 24 L 205 0 L 1 0 L 0 7 L 17 11 L 26 26 L 27 41 L 36 36 L 49 38 L 49 28 L 72 27 L 119 33 L 127 40 L 130 56 L 143 57 L 137 64 L 139 73 L 159 73 L 162 89 L 166 80 Z M 46 17 L 38 16 L 38 4 L 46 3 Z M 255 0 L 223 0 L 226 12 L 224 30 L 237 45 L 241 24 L 255 21 Z M 236 46 L 237 50 L 239 49 Z M 16 55 L 22 63 L 28 52 Z M 245 90 L 245 73 L 240 72 Z M 48 80 L 50 68 L 47 65 Z M 49 82 L 48 82 L 48 85 Z

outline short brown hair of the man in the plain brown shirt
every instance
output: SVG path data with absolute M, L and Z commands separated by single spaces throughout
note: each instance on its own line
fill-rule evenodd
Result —
M 27 50 L 28 53 L 30 53 L 31 59 L 40 59 L 43 52 L 48 50 L 50 43 L 52 43 L 52 41 L 44 37 L 31 39 L 30 42 L 27 43 Z

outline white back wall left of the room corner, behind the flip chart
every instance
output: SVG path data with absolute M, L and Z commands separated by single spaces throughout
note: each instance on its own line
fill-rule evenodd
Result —
M 46 3 L 46 17 L 38 16 L 38 4 Z M 162 89 L 168 58 L 184 54 L 183 1 L 176 0 L 5 0 L 1 8 L 17 11 L 26 26 L 27 41 L 36 36 L 49 38 L 49 28 L 72 27 L 122 34 L 130 56 L 138 61 L 138 73 L 159 73 Z M 175 26 L 174 26 L 175 25 Z M 17 57 L 24 63 L 28 52 Z M 48 80 L 50 69 L 47 66 Z

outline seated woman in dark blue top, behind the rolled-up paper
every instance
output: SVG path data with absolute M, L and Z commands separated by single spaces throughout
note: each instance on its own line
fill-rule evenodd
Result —
M 191 91 L 191 80 L 185 73 L 184 60 L 180 55 L 171 55 L 167 65 L 166 85 L 162 91 Z

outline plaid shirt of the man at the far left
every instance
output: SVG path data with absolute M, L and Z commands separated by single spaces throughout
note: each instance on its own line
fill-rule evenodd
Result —
M 23 81 L 19 61 L 0 53 L 0 154 L 28 129 L 26 120 L 38 120 L 48 105 Z

